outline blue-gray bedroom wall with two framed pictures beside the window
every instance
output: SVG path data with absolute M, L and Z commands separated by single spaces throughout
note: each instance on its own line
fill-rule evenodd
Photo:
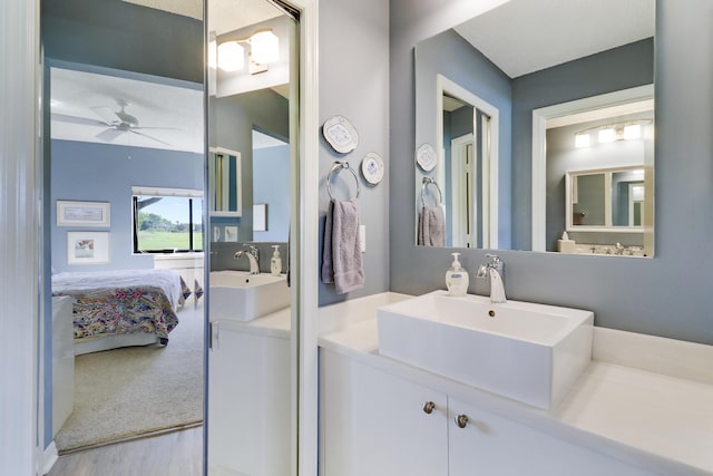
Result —
M 131 158 L 128 158 L 130 153 Z M 57 226 L 51 210 L 52 265 L 57 271 L 154 268 L 154 258 L 136 255 L 131 234 L 131 186 L 203 190 L 203 155 L 188 152 L 52 140 L 51 203 L 58 200 L 109 202 L 111 226 Z M 67 232 L 109 232 L 109 263 L 67 264 Z

